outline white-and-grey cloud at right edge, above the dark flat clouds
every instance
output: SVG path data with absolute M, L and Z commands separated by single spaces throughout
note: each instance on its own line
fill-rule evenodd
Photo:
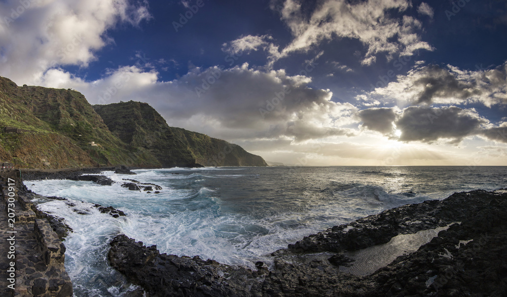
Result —
M 377 88 L 370 95 L 410 104 L 481 102 L 490 107 L 507 104 L 507 62 L 493 69 L 461 70 L 447 65 L 416 65 L 407 75 Z

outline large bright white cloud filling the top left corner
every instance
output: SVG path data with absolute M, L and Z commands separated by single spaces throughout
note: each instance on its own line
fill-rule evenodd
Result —
M 114 41 L 107 30 L 118 23 L 138 26 L 151 18 L 146 2 L 129 0 L 36 1 L 19 16 L 20 4 L 0 3 L 2 75 L 38 84 L 44 72 L 62 65 L 87 67 L 95 53 Z M 20 10 L 21 11 L 21 10 Z

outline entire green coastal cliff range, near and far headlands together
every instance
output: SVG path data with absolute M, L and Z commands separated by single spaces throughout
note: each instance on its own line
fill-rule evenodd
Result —
M 266 166 L 238 145 L 167 126 L 147 103 L 92 106 L 71 89 L 19 87 L 2 77 L 0 161 L 39 169 Z

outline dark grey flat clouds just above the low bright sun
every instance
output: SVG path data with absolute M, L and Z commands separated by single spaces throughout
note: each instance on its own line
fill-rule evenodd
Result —
M 459 143 L 463 138 L 474 135 L 492 135 L 494 130 L 485 130 L 489 121 L 481 117 L 475 109 L 462 109 L 455 106 L 431 108 L 410 106 L 396 114 L 393 108 L 369 108 L 358 113 L 363 127 L 381 132 L 391 139 L 392 126 L 401 131 L 399 141 L 421 141 L 432 143 L 448 139 Z M 489 131 L 489 132 L 486 132 Z

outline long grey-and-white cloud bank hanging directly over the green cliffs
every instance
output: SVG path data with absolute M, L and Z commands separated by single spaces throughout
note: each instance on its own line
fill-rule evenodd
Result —
M 228 140 L 306 141 L 356 134 L 344 128 L 356 121 L 356 107 L 333 102 L 330 90 L 310 88 L 310 78 L 287 76 L 284 70 L 254 70 L 247 64 L 196 67 L 177 80 L 160 82 L 154 70 L 126 66 L 87 83 L 53 69 L 44 83 L 79 90 L 91 104 L 149 102 L 172 126 Z

